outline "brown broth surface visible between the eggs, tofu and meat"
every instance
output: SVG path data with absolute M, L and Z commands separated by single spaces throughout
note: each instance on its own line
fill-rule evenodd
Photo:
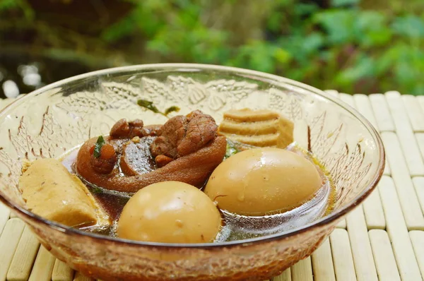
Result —
M 248 149 L 245 145 L 243 146 L 245 147 L 244 149 Z M 314 163 L 315 167 L 317 167 L 317 170 L 319 171 L 320 176 L 322 177 L 323 184 L 321 189 L 317 191 L 314 198 L 312 198 L 310 201 L 305 202 L 298 208 L 281 214 L 251 217 L 236 215 L 223 210 L 221 213 L 223 214 L 225 226 L 218 234 L 216 242 L 235 241 L 287 232 L 290 229 L 295 229 L 301 227 L 302 225 L 307 225 L 311 222 L 314 222 L 314 220 L 318 220 L 320 217 L 323 217 L 324 215 L 327 215 L 331 212 L 336 197 L 336 189 L 334 188 L 334 185 L 331 184 L 331 179 L 328 172 L 325 171 L 324 167 L 319 164 L 319 161 L 316 158 L 314 158 L 312 155 L 310 155 L 310 153 L 307 153 L 302 148 L 299 148 L 293 144 L 289 145 L 287 149 L 302 155 Z M 71 153 L 65 155 L 62 158 L 62 163 L 67 169 L 69 169 L 70 172 L 74 172 L 73 163 L 76 161 L 77 153 L 78 148 L 71 151 Z M 119 216 L 122 213 L 124 205 L 129 201 L 129 198 L 131 198 L 132 194 L 110 191 L 107 189 L 102 189 L 99 186 L 89 184 L 84 180 L 83 182 L 88 187 L 88 190 L 93 194 L 95 200 L 97 200 L 98 203 L 102 205 L 113 221 L 112 225 L 107 229 L 88 227 L 84 230 L 116 237 L 117 221 L 119 220 Z

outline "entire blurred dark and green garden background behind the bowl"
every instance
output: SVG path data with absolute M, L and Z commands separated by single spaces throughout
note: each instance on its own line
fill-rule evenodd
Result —
M 424 94 L 422 0 L 0 0 L 0 97 L 130 64 L 237 66 Z

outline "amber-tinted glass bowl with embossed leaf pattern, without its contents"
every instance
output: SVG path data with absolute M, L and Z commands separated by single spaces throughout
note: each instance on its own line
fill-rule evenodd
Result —
M 201 109 L 219 123 L 233 108 L 273 109 L 295 122 L 295 140 L 331 173 L 329 215 L 288 232 L 217 244 L 160 244 L 89 234 L 25 208 L 18 189 L 23 160 L 61 157 L 107 134 L 121 118 L 163 124 L 138 99 L 160 109 Z M 31 92 L 0 112 L 0 199 L 54 256 L 102 280 L 265 280 L 322 244 L 343 215 L 375 188 L 384 169 L 377 131 L 340 100 L 271 74 L 225 66 L 151 64 L 95 71 Z

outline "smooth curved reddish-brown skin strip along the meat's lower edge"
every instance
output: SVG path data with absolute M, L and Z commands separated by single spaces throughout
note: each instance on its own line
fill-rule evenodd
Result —
M 105 189 L 124 192 L 136 192 L 144 186 L 159 181 L 182 181 L 193 186 L 201 187 L 220 162 L 223 161 L 227 140 L 224 136 L 216 136 L 203 148 L 195 153 L 167 163 L 164 167 L 145 174 L 132 177 L 121 177 L 117 169 L 110 174 L 99 174 L 87 161 L 90 147 L 96 138 L 91 138 L 81 146 L 76 160 L 76 170 L 84 179 Z

